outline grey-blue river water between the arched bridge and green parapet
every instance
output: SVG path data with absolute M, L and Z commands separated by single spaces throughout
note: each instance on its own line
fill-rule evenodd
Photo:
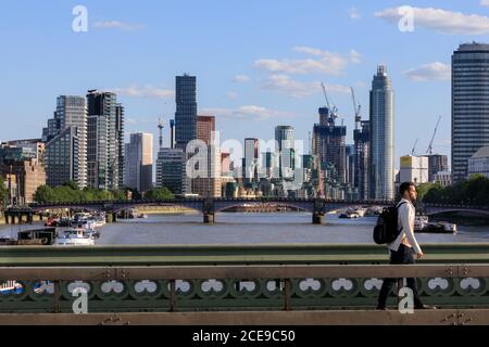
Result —
M 324 224 L 311 223 L 308 213 L 221 213 L 216 223 L 202 223 L 200 214 L 149 215 L 143 219 L 118 220 L 101 229 L 96 244 L 256 244 L 256 243 L 373 243 L 375 217 L 341 219 L 325 216 Z M 0 226 L 0 236 L 14 236 L 40 227 Z M 459 224 L 456 234 L 416 233 L 419 243 L 489 242 L 489 226 Z

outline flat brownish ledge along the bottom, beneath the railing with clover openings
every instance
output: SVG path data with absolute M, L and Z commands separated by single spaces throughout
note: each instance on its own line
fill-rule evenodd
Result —
M 0 325 L 486 325 L 489 309 L 0 313 Z

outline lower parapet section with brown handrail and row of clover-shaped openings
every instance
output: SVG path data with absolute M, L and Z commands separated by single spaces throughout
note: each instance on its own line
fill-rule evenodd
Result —
M 75 288 L 90 312 L 365 309 L 389 277 L 418 278 L 426 304 L 489 307 L 488 265 L 9 267 L 0 279 L 16 288 L 0 294 L 0 312 L 72 312 Z

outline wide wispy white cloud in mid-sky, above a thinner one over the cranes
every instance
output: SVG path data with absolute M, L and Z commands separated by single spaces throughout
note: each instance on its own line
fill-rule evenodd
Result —
M 353 50 L 350 52 L 350 57 L 339 53 L 303 46 L 294 47 L 293 51 L 313 55 L 316 59 L 260 59 L 254 62 L 254 67 L 267 69 L 273 73 L 325 74 L 338 76 L 341 75 L 349 61 L 359 62 L 360 60 L 359 53 Z M 352 52 L 354 52 L 353 55 Z

